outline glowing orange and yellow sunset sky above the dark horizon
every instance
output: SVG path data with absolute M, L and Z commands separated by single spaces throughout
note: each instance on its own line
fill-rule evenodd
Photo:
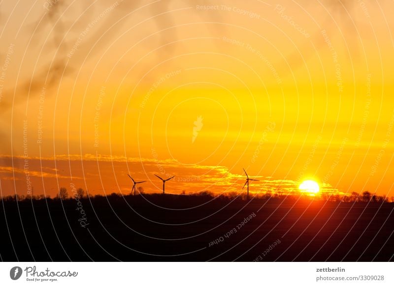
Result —
M 394 195 L 392 1 L 71 2 L 1 4 L 3 195 Z

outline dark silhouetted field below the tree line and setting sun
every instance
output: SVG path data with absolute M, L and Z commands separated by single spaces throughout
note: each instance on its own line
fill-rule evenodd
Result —
M 389 261 L 394 203 L 202 195 L 0 201 L 3 261 Z

